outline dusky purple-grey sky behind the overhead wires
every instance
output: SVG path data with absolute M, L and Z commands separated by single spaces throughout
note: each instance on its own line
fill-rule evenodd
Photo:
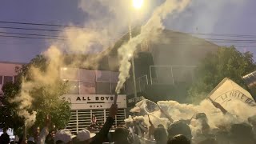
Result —
M 238 34 L 235 37 L 227 37 L 226 35 L 222 37 L 206 37 L 201 35 L 202 38 L 254 40 L 256 38 L 256 9 L 254 7 L 256 6 L 256 1 L 241 1 L 242 0 L 214 0 L 211 2 L 194 0 L 182 14 L 179 14 L 177 17 L 170 15 L 164 23 L 166 28 L 170 30 L 207 34 Z M 150 0 L 147 2 L 150 2 Z M 58 25 L 69 25 L 72 23 L 76 26 L 84 26 L 86 22 L 91 19 L 88 14 L 78 8 L 78 3 L 78 0 L 6 0 L 2 1 L 0 4 L 0 21 L 35 22 Z M 95 8 L 95 11 L 99 9 L 100 8 Z M 102 16 L 104 16 L 104 14 L 102 14 Z M 62 30 L 54 26 L 22 26 L 0 22 L 0 27 L 2 26 Z M 0 28 L 0 33 L 1 32 L 47 35 L 58 34 L 56 32 Z M 254 37 L 241 37 L 241 35 L 248 34 L 254 35 Z M 49 46 L 48 43 L 49 42 L 43 39 L 4 38 L 0 36 L 0 61 L 29 62 L 36 54 L 40 54 L 42 51 L 46 50 Z M 225 46 L 233 44 L 241 51 L 250 50 L 254 53 L 256 52 L 256 49 L 254 49 L 255 43 L 253 41 L 234 41 L 234 43 L 219 42 L 219 44 Z

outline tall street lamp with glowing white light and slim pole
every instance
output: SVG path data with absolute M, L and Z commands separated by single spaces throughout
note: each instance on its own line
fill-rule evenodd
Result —
M 135 9 L 140 9 L 142 8 L 144 0 L 133 0 L 133 6 Z M 131 18 L 130 18 L 131 21 Z M 131 34 L 131 22 L 129 23 L 129 35 L 130 39 L 132 38 Z M 131 57 L 131 66 L 132 66 L 132 73 L 133 73 L 133 80 L 134 80 L 134 102 L 135 104 L 138 102 L 137 98 L 137 86 L 136 86 L 136 78 L 135 78 L 135 67 L 134 67 L 134 57 L 132 54 L 129 55 Z

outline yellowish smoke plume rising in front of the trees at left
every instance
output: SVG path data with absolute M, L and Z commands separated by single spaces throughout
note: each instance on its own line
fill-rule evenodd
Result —
M 31 80 L 27 81 L 26 78 L 22 78 L 22 86 L 20 94 L 14 99 L 10 99 L 10 102 L 18 103 L 18 115 L 24 118 L 26 127 L 34 125 L 36 121 L 36 111 L 30 111 L 34 97 L 30 94 L 31 90 L 40 86 L 53 85 L 58 79 L 59 71 L 58 67 L 62 64 L 62 53 L 57 47 L 51 46 L 44 55 L 49 59 L 46 72 L 42 72 L 38 68 L 30 67 Z M 49 89 L 49 93 L 54 92 L 55 86 Z

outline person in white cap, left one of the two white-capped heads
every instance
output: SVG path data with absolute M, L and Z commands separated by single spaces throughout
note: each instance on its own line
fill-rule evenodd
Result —
M 72 138 L 75 136 L 71 134 L 70 130 L 58 130 L 54 137 L 54 143 L 56 144 L 70 144 Z

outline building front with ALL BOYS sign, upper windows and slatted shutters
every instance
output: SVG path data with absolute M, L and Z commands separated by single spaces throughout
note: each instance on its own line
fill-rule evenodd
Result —
M 62 67 L 60 77 L 68 81 L 70 91 L 62 96 L 71 103 L 71 118 L 67 129 L 73 133 L 90 126 L 91 118 L 103 124 L 109 115 L 109 108 L 114 102 L 114 90 L 118 82 L 118 72 L 110 70 L 86 70 Z M 114 125 L 126 118 L 126 95 L 118 96 L 118 114 Z

